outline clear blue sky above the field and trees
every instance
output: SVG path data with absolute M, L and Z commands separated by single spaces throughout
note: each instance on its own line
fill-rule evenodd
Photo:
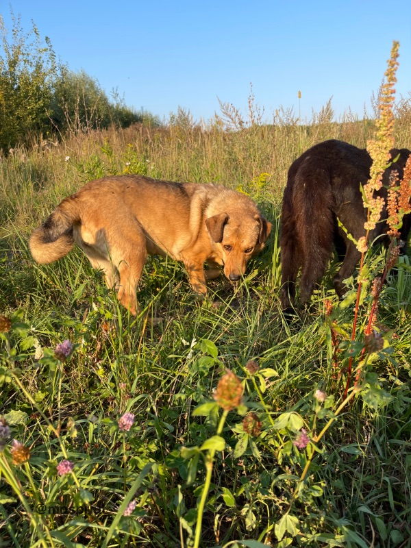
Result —
M 217 97 L 245 113 L 250 83 L 267 120 L 282 105 L 309 121 L 331 97 L 337 119 L 348 108 L 361 118 L 393 40 L 397 99 L 410 97 L 410 0 L 1 0 L 9 28 L 10 6 L 71 70 L 160 119 L 181 106 L 207 121 Z

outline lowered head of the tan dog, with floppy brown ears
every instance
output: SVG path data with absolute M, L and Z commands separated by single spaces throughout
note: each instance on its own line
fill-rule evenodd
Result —
M 245 274 L 247 262 L 264 247 L 272 227 L 260 214 L 238 218 L 228 213 L 209 217 L 206 226 L 216 243 L 224 274 L 231 282 L 238 282 Z

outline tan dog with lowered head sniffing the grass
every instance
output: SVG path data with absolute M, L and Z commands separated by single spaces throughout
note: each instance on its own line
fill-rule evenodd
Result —
M 206 279 L 217 277 L 220 266 L 232 282 L 240 279 L 270 231 L 255 203 L 236 190 L 120 175 L 92 181 L 64 199 L 29 246 L 34 260 L 45 264 L 64 257 L 76 242 L 136 314 L 147 254 L 184 262 L 192 288 L 206 295 Z

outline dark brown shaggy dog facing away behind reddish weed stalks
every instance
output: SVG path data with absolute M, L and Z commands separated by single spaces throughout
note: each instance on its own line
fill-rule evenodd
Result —
M 378 195 L 386 199 L 390 172 L 397 170 L 403 177 L 403 168 L 411 151 L 393 149 L 391 158 L 398 160 L 386 169 L 384 186 Z M 343 279 L 349 277 L 360 260 L 356 245 L 338 227 L 337 217 L 356 240 L 365 235 L 366 210 L 362 205 L 360 184 L 370 177 L 372 160 L 365 149 L 347 142 L 327 140 L 308 149 L 288 170 L 288 181 L 282 203 L 282 308 L 291 312 L 295 299 L 295 282 L 301 267 L 300 303 L 310 299 L 312 290 L 325 273 L 333 247 L 343 258 L 343 264 L 334 277 L 334 288 L 339 297 L 345 293 Z M 369 242 L 387 230 L 387 212 L 382 222 L 370 233 Z M 407 240 L 411 214 L 404 216 L 401 240 Z M 404 244 L 405 247 L 405 244 Z M 404 249 L 404 248 L 403 248 Z

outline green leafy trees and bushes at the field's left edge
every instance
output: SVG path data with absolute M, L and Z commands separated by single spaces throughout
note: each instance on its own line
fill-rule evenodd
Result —
M 27 145 L 40 136 L 129 127 L 147 116 L 128 108 L 116 91 L 109 98 L 84 71 L 70 71 L 34 23 L 25 33 L 20 16 L 12 13 L 12 21 L 9 33 L 0 14 L 0 149 Z M 155 116 L 148 116 L 158 125 Z

